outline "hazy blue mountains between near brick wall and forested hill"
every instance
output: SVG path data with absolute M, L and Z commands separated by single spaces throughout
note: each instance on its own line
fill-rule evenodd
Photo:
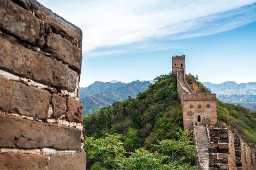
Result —
M 117 100 L 131 96 L 135 98 L 139 92 L 148 89 L 149 81 L 132 81 L 123 83 L 113 80 L 103 83 L 95 81 L 88 87 L 80 88 L 80 100 L 83 103 L 83 115 L 93 113 L 102 107 L 108 107 Z

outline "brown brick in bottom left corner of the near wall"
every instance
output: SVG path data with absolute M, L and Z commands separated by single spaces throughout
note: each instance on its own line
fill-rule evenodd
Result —
M 1 170 L 47 170 L 49 159 L 44 155 L 21 153 L 0 154 Z

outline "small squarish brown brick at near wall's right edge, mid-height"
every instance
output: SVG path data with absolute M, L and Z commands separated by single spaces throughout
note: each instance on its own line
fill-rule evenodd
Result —
M 66 118 L 70 122 L 83 122 L 83 106 L 80 100 L 74 98 L 67 99 Z

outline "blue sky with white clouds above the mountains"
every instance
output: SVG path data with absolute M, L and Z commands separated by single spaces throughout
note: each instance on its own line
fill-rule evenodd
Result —
M 256 0 L 38 0 L 83 31 L 80 87 L 153 80 L 186 56 L 201 82 L 256 82 Z

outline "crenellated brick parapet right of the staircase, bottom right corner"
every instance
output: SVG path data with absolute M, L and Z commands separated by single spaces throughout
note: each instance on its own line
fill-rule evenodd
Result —
M 256 152 L 218 121 L 210 130 L 209 170 L 256 170 Z

